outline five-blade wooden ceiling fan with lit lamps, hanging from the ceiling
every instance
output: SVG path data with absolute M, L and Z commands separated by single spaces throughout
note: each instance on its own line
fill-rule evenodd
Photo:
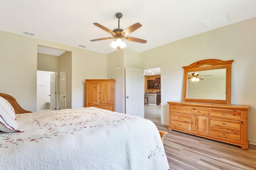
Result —
M 122 16 L 123 16 L 122 13 L 120 13 L 120 12 L 116 13 L 116 18 L 118 18 L 118 28 L 116 28 L 114 30 L 110 30 L 98 23 L 93 23 L 94 25 L 101 28 L 102 30 L 112 34 L 113 37 L 98 38 L 98 39 L 90 40 L 90 41 L 95 42 L 95 41 L 108 40 L 108 39 L 115 38 L 114 42 L 111 43 L 111 47 L 117 48 L 117 49 L 126 47 L 126 44 L 122 41 L 122 39 L 131 41 L 131 42 L 146 43 L 147 42 L 146 40 L 127 36 L 128 34 L 134 32 L 135 30 L 140 28 L 142 26 L 140 23 L 137 22 L 136 24 L 133 24 L 132 26 L 129 26 L 128 28 L 126 28 L 124 30 L 119 28 L 120 18 L 122 18 Z

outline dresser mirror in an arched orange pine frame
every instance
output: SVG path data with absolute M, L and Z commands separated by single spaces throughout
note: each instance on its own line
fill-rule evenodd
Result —
M 184 66 L 183 101 L 231 104 L 231 63 L 205 59 Z

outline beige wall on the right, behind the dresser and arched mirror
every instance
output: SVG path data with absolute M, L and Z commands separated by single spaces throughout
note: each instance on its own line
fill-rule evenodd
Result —
M 140 53 L 141 68 L 161 66 L 162 123 L 169 125 L 167 101 L 182 99 L 182 66 L 202 59 L 234 59 L 232 104 L 251 106 L 248 111 L 248 138 L 251 143 L 256 144 L 255 26 L 256 18 L 252 18 Z

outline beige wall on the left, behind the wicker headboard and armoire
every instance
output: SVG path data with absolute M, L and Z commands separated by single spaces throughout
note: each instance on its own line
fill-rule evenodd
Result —
M 0 91 L 36 111 L 37 45 L 72 51 L 72 108 L 83 107 L 84 79 L 106 78 L 107 55 L 0 31 Z

